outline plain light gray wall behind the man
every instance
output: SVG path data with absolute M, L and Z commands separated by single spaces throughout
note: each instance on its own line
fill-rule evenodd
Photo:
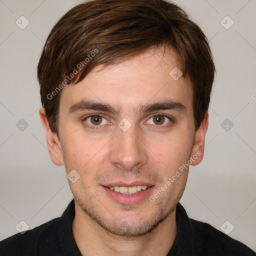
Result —
M 21 220 L 31 229 L 60 216 L 73 198 L 64 166 L 47 150 L 36 65 L 52 26 L 80 2 L 0 0 L 0 240 L 17 233 Z M 217 69 L 204 159 L 190 167 L 181 203 L 219 230 L 228 220 L 229 236 L 256 250 L 256 1 L 174 2 L 205 32 Z M 21 15 L 24 29 L 15 23 Z

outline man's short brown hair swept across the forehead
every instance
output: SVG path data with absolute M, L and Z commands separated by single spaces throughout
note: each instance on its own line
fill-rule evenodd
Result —
M 59 19 L 38 62 L 41 103 L 51 130 L 58 134 L 59 90 L 63 85 L 81 81 L 96 65 L 119 63 L 162 45 L 176 50 L 178 67 L 184 78 L 190 78 L 197 129 L 209 107 L 215 73 L 202 30 L 183 9 L 165 0 L 90 0 Z M 98 53 L 89 58 L 95 49 Z M 82 61 L 86 63 L 78 71 L 77 64 Z M 67 79 L 71 73 L 72 78 Z

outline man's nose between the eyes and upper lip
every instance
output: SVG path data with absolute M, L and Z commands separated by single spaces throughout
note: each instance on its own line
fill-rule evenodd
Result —
M 110 162 L 121 170 L 139 169 L 148 159 L 142 133 L 136 129 L 135 124 L 126 131 L 116 127 L 116 132 L 111 140 Z

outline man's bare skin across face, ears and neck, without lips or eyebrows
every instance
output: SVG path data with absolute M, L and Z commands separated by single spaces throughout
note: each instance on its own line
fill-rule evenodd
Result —
M 172 49 L 164 55 L 162 47 L 147 50 L 102 70 L 95 67 L 81 82 L 65 86 L 60 96 L 59 139 L 50 130 L 44 109 L 39 110 L 51 160 L 65 164 L 67 173 L 75 169 L 80 175 L 76 182 L 68 182 L 75 198 L 72 230 L 82 255 L 160 256 L 173 244 L 175 207 L 185 188 L 188 168 L 153 202 L 147 196 L 139 203 L 117 203 L 102 184 L 145 181 L 154 185 L 152 196 L 190 157 L 197 154 L 192 165 L 202 160 L 208 113 L 195 131 L 190 81 L 169 75 L 177 60 Z M 120 113 L 68 113 L 81 99 L 108 103 Z M 180 102 L 185 109 L 136 110 L 168 99 Z M 89 114 L 104 118 L 101 122 L 84 119 Z M 161 124 L 153 117 L 157 114 Z M 131 124 L 126 131 L 118 127 L 123 118 Z

